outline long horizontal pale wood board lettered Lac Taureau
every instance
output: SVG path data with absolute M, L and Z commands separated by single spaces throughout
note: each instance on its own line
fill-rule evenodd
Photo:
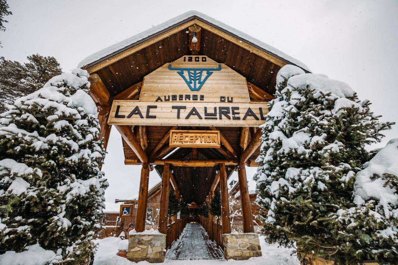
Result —
M 114 100 L 111 125 L 259 127 L 265 123 L 267 102 L 142 102 Z

